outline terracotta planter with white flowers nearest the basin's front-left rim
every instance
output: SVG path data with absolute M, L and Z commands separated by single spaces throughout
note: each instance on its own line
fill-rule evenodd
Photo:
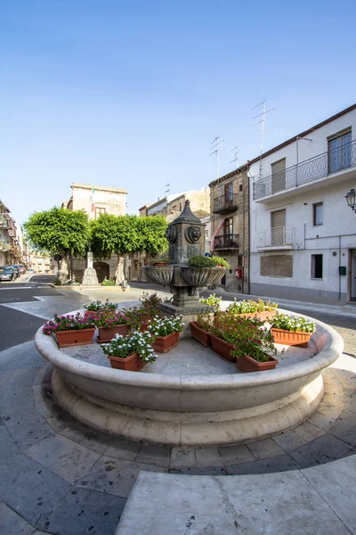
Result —
M 101 347 L 105 355 L 108 355 L 111 367 L 138 372 L 143 366 L 156 360 L 151 346 L 153 341 L 154 337 L 149 331 L 134 331 L 126 338 L 116 334 L 111 342 Z

